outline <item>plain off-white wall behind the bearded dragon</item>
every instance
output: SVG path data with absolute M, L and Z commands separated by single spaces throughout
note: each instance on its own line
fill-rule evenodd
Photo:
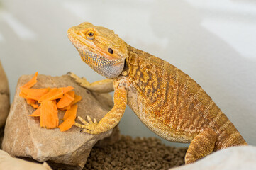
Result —
M 89 81 L 103 79 L 67 39 L 67 29 L 84 21 L 115 30 L 133 47 L 189 74 L 256 145 L 254 0 L 0 0 L 0 60 L 11 101 L 22 74 L 72 71 Z M 154 135 L 130 108 L 120 128 L 134 137 Z

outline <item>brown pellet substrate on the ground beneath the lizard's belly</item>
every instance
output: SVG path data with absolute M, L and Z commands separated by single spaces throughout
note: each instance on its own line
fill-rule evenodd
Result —
M 122 135 L 113 145 L 91 149 L 84 169 L 169 169 L 184 164 L 186 152 L 155 137 Z

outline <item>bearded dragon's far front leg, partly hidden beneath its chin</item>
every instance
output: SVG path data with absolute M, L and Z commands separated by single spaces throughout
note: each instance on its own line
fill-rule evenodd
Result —
M 67 73 L 70 77 L 74 79 L 80 86 L 88 89 L 90 91 L 95 91 L 98 93 L 108 93 L 113 91 L 113 80 L 112 79 L 104 79 L 100 81 L 95 81 L 93 83 L 89 83 L 87 79 L 84 77 L 80 78 L 76 74 L 72 72 Z

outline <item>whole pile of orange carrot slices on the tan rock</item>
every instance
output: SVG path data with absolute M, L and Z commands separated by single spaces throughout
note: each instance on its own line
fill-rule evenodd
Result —
M 21 86 L 19 96 L 25 98 L 27 103 L 36 110 L 30 115 L 40 117 L 40 127 L 60 128 L 60 131 L 69 130 L 74 125 L 77 116 L 77 103 L 82 99 L 74 93 L 72 86 L 60 88 L 32 89 L 37 82 L 38 72 L 28 83 Z M 63 123 L 59 125 L 58 109 L 66 111 Z

